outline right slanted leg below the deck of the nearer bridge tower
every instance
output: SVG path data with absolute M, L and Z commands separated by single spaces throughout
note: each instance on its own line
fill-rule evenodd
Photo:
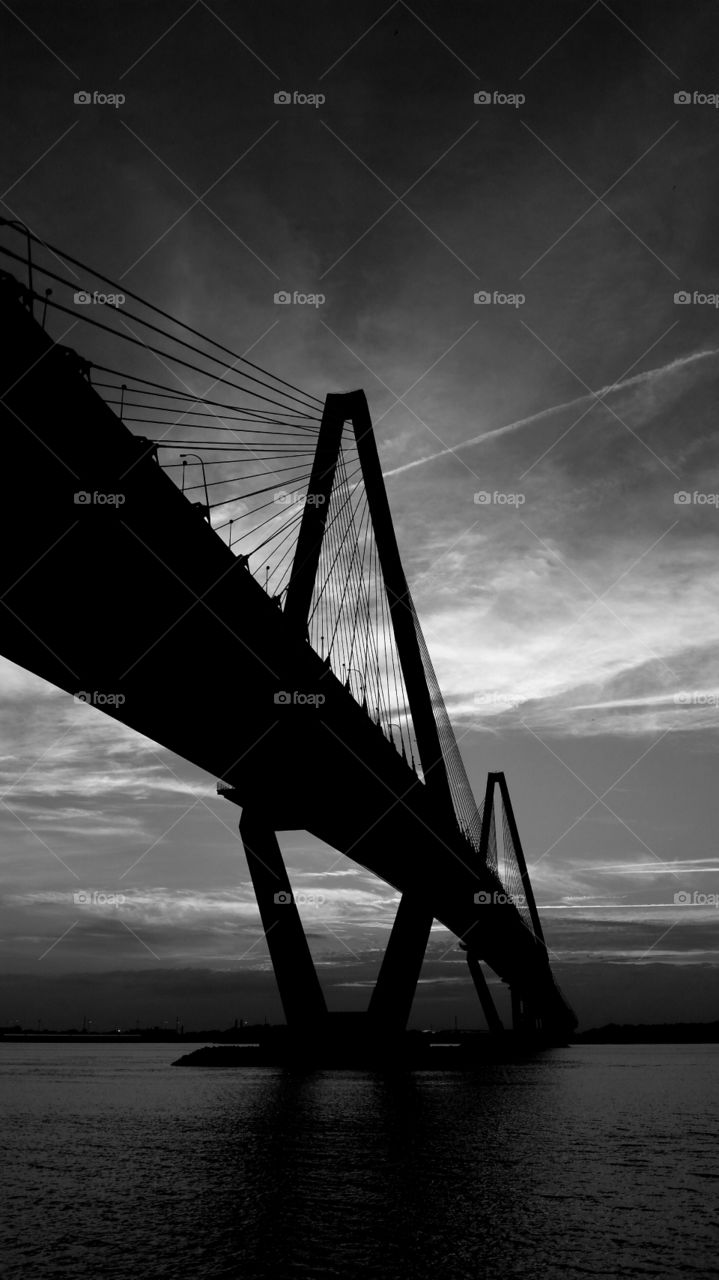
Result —
M 367 1010 L 377 1030 L 406 1029 L 432 920 L 423 902 L 411 893 L 402 895 Z

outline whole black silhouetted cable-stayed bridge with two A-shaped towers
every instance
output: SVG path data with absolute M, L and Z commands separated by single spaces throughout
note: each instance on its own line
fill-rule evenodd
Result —
M 477 806 L 365 394 L 322 401 L 0 225 L 0 652 L 220 780 L 290 1029 L 334 1016 L 276 838 L 304 829 L 400 895 L 361 1037 L 406 1028 L 438 920 L 491 1032 L 482 965 L 517 1036 L 565 1041 L 507 781 Z

